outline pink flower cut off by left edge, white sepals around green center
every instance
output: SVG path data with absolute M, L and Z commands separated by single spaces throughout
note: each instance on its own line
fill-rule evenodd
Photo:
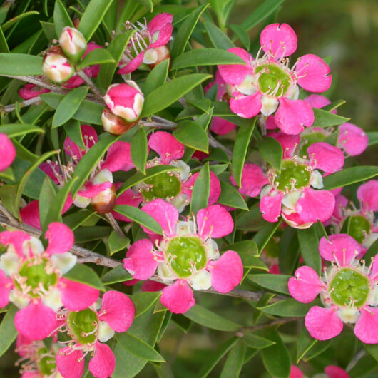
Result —
M 82 310 L 99 295 L 97 289 L 63 277 L 76 264 L 76 256 L 68 252 L 73 232 L 62 223 L 51 223 L 46 238 L 44 250 L 39 239 L 22 231 L 0 233 L 0 243 L 8 246 L 0 257 L 0 307 L 9 302 L 19 307 L 14 325 L 32 340 L 53 332 L 62 306 Z

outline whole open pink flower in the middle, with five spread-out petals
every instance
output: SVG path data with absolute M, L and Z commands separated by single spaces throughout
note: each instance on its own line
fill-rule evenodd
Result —
M 233 230 L 230 214 L 218 205 L 198 211 L 197 218 L 178 221 L 178 210 L 164 200 L 153 200 L 142 208 L 163 228 L 163 237 L 144 229 L 155 240 L 134 242 L 123 266 L 138 280 L 147 280 L 155 271 L 166 285 L 160 301 L 171 312 L 183 313 L 195 304 L 193 290 L 213 286 L 229 292 L 242 280 L 242 260 L 232 250 L 219 255 L 213 238 Z M 220 257 L 219 257 L 220 256 Z M 191 289 L 191 288 L 193 289 Z

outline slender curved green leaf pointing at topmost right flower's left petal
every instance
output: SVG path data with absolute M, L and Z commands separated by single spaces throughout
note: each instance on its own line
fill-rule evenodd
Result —
M 219 48 L 197 48 L 175 58 L 172 63 L 172 69 L 196 66 L 216 66 L 217 64 L 245 65 L 245 61 L 235 55 L 235 53 L 220 50 Z

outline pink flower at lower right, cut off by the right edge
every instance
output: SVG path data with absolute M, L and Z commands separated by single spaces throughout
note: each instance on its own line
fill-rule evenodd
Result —
M 327 340 L 342 332 L 343 323 L 354 325 L 354 334 L 366 344 L 377 344 L 378 333 L 378 255 L 369 267 L 357 260 L 361 246 L 346 234 L 322 237 L 320 255 L 332 262 L 322 277 L 312 267 L 299 267 L 289 280 L 289 292 L 302 303 L 317 295 L 325 307 L 307 312 L 305 326 L 315 339 Z

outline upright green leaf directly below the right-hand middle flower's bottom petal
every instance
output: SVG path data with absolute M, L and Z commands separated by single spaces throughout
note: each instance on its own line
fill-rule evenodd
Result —
M 297 229 L 300 252 L 305 265 L 312 267 L 318 275 L 322 272 L 322 259 L 319 253 L 319 237 L 314 227 Z

